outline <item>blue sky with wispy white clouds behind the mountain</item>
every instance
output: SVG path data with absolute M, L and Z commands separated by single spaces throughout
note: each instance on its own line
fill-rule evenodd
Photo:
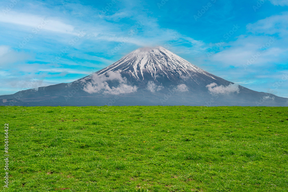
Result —
M 162 46 L 288 98 L 288 0 L 3 0 L 0 10 L 0 95 L 68 83 Z

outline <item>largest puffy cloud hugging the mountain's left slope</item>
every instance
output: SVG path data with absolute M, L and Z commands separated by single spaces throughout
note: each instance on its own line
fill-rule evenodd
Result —
M 99 76 L 96 73 L 94 73 L 91 82 L 84 82 L 83 90 L 90 94 L 103 92 L 103 94 L 112 94 L 112 95 L 128 94 L 137 91 L 136 86 L 126 84 L 127 79 L 125 77 L 122 78 L 120 73 L 109 71 L 107 74 L 108 76 L 105 75 Z M 118 81 L 120 84 L 118 85 L 118 87 L 110 88 L 107 81 Z

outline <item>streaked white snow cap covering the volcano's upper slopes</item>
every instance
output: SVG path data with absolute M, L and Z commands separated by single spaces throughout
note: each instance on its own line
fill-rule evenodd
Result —
M 137 81 L 144 81 L 146 77 L 154 79 L 166 76 L 168 79 L 194 78 L 199 75 L 215 79 L 216 76 L 189 63 L 163 47 L 140 48 L 110 66 L 96 72 L 97 75 L 106 75 L 109 71 L 128 73 Z M 92 75 L 83 80 L 92 79 Z

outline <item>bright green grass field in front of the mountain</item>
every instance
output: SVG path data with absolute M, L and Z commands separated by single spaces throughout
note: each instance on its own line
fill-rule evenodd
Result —
M 287 107 L 0 107 L 0 118 L 1 191 L 288 191 Z

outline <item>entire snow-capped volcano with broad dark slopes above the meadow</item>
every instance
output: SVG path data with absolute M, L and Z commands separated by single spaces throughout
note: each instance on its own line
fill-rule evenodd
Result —
M 71 83 L 0 96 L 0 105 L 288 106 L 288 99 L 236 85 L 155 47 L 137 49 Z

